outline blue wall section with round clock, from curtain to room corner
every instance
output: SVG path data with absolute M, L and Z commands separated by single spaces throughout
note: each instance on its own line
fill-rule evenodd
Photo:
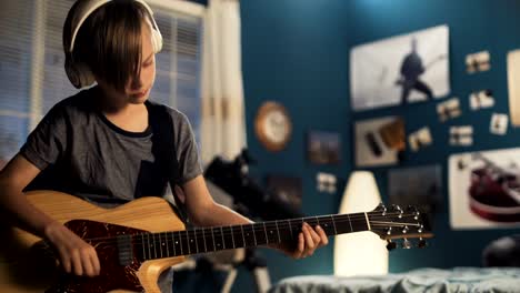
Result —
M 258 180 L 267 173 L 300 176 L 303 212 L 332 213 L 339 195 L 317 193 L 316 173 L 346 178 L 351 168 L 350 143 L 343 143 L 347 158 L 342 164 L 320 168 L 306 160 L 304 140 L 311 129 L 350 137 L 348 48 L 354 39 L 346 21 L 348 6 L 343 1 L 301 0 L 240 4 L 248 146 L 258 160 L 252 171 L 257 171 Z M 292 139 L 282 152 L 266 151 L 253 133 L 256 112 L 266 100 L 281 102 L 292 118 Z M 301 261 L 267 250 L 262 254 L 272 281 L 293 274 L 332 273 L 332 245 Z

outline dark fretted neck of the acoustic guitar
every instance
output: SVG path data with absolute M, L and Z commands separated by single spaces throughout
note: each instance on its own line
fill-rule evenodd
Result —
M 333 214 L 243 225 L 122 235 L 118 239 L 118 245 L 127 251 L 134 250 L 133 253 L 144 261 L 253 247 L 296 240 L 303 222 L 312 226 L 319 224 L 327 235 L 370 230 L 367 213 Z M 129 254 L 132 253 L 129 252 Z

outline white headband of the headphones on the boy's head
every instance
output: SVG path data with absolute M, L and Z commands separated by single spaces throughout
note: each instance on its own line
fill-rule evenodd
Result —
M 74 41 L 76 36 L 78 34 L 79 29 L 83 24 L 84 20 L 98 8 L 102 7 L 103 4 L 111 2 L 112 0 L 80 0 L 78 1 L 78 7 L 74 9 L 74 13 L 70 20 L 70 44 L 66 44 L 66 50 L 71 53 L 74 50 Z M 153 19 L 153 11 L 151 8 L 143 1 L 143 0 L 133 0 L 136 2 L 141 3 L 150 14 L 151 23 L 157 32 L 159 32 L 159 27 Z

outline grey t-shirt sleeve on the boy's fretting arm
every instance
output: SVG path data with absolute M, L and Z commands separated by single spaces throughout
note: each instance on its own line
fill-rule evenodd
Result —
M 176 129 L 177 138 L 177 160 L 179 162 L 179 184 L 197 178 L 202 174 L 202 164 L 200 162 L 193 129 L 188 118 L 180 113 L 180 119 Z

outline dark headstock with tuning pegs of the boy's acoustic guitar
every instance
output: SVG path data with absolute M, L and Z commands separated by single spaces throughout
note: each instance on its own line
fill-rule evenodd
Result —
M 382 240 L 388 241 L 387 249 L 397 247 L 394 240 L 402 240 L 401 247 L 411 249 L 411 239 L 417 239 L 417 246 L 426 246 L 426 239 L 432 238 L 428 215 L 421 213 L 416 206 L 409 205 L 406 209 L 392 204 L 387 208 L 382 203 L 368 213 L 370 231 L 378 234 Z

